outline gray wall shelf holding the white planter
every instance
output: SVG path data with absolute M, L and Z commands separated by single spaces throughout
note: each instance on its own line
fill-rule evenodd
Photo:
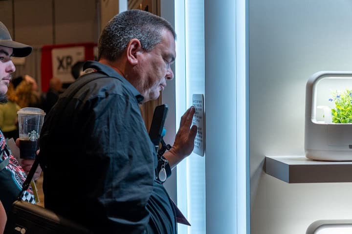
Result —
M 265 172 L 287 183 L 352 182 L 352 162 L 315 161 L 305 156 L 265 156 Z

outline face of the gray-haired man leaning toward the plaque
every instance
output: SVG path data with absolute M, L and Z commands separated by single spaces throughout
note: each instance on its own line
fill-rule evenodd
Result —
M 174 78 L 171 64 L 176 58 L 175 39 L 169 30 L 164 30 L 161 35 L 161 42 L 153 50 L 143 52 L 139 64 L 141 79 L 137 89 L 144 96 L 144 102 L 157 99 L 166 80 Z

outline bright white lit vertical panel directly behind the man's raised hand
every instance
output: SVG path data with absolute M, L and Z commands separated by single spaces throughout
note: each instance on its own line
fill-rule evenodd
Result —
M 186 108 L 193 94 L 205 93 L 204 0 L 185 0 Z M 204 102 L 204 106 L 206 103 Z M 203 106 L 203 107 L 204 107 Z M 206 234 L 205 157 L 192 153 L 187 158 L 187 234 Z

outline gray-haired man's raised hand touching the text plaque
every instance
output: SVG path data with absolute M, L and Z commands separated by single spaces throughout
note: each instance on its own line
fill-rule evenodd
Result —
M 194 106 L 191 106 L 181 117 L 180 127 L 176 133 L 175 143 L 170 151 L 164 154 L 171 168 L 190 155 L 194 149 L 194 140 L 197 135 L 197 126 L 192 125 L 195 114 Z

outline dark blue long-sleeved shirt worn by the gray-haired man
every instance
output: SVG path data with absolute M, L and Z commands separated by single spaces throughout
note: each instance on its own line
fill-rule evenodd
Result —
M 40 136 L 45 207 L 96 233 L 176 233 L 175 210 L 155 180 L 143 96 L 111 67 L 88 62 L 47 114 Z M 103 77 L 84 84 L 94 79 Z M 83 86 L 82 86 L 83 85 Z

